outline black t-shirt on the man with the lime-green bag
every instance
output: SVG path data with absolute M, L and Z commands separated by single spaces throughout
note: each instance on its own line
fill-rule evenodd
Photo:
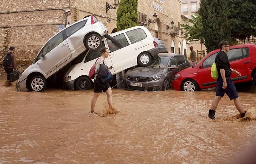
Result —
M 229 58 L 227 56 L 227 53 L 224 51 L 220 51 L 215 58 L 215 63 L 216 63 L 216 68 L 218 70 L 219 76 L 220 74 L 220 69 L 225 70 L 225 76 L 229 77 L 232 75 L 232 71 L 230 69 L 230 64 L 229 64 Z

